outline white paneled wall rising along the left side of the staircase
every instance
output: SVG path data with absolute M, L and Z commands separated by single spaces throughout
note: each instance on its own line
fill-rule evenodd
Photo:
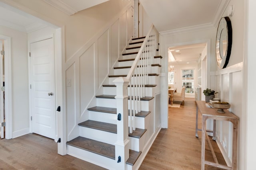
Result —
M 67 141 L 79 136 L 78 123 L 88 119 L 87 109 L 96 106 L 96 94 L 132 38 L 132 14 L 132 6 L 123 10 L 66 61 Z

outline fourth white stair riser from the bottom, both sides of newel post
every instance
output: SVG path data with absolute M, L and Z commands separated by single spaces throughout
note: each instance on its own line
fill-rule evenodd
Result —
M 130 100 L 128 100 L 128 109 L 130 109 Z M 140 101 L 141 102 L 141 110 L 149 111 L 148 101 Z M 113 107 L 116 108 L 116 100 L 115 99 L 106 99 L 106 98 L 97 98 L 97 106 L 100 107 Z M 134 104 L 132 102 L 132 109 L 134 108 Z

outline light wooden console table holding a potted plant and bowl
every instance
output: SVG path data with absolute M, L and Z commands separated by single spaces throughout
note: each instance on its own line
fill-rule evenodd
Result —
M 217 109 L 215 108 L 209 108 L 205 106 L 205 101 L 196 101 L 196 137 L 198 137 L 197 132 L 202 131 L 202 149 L 201 149 L 201 170 L 204 170 L 205 164 L 216 166 L 218 168 L 223 168 L 226 170 L 236 170 L 237 166 L 237 136 L 238 136 L 238 117 L 225 109 L 225 113 L 218 113 Z M 200 113 L 202 114 L 202 130 L 198 129 L 198 109 Z M 233 123 L 233 139 L 232 139 L 232 167 L 221 165 L 218 163 L 218 160 L 216 158 L 216 155 L 214 153 L 214 150 L 212 148 L 212 145 L 210 143 L 210 139 L 208 135 L 206 135 L 206 120 L 207 119 L 213 119 L 214 125 L 213 125 L 213 138 L 215 138 L 215 128 L 216 128 L 216 120 L 222 120 L 222 121 L 230 121 Z M 208 144 L 210 146 L 212 156 L 214 158 L 215 162 L 210 162 L 205 160 L 205 138 L 207 137 Z

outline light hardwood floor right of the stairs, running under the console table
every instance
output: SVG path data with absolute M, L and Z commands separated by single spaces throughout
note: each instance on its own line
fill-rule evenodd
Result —
M 198 133 L 198 138 L 195 137 L 196 103 L 194 98 L 185 98 L 185 104 L 180 108 L 169 107 L 168 115 L 168 129 L 161 129 L 139 170 L 200 170 L 201 132 Z M 201 119 L 199 114 L 199 128 L 202 126 Z M 212 141 L 212 145 L 220 164 L 225 164 L 216 142 Z M 206 160 L 214 162 L 207 144 Z M 220 170 L 220 168 L 207 165 L 205 169 Z

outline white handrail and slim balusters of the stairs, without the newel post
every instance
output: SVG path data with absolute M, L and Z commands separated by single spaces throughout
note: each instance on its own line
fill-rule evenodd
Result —
M 154 25 L 152 25 L 140 47 L 138 54 L 136 55 L 129 73 L 126 76 L 126 79 L 129 80 L 130 85 L 130 133 L 136 129 L 135 115 L 141 111 L 140 99 L 145 97 L 145 86 L 150 84 L 149 75 L 152 73 L 152 64 L 154 64 L 154 56 L 156 56 L 157 48 L 158 31 Z

